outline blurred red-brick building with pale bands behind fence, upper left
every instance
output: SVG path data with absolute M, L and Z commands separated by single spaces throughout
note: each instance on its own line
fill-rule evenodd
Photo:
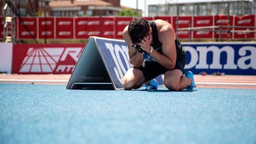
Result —
M 126 6 L 120 0 L 11 0 L 20 16 L 115 16 Z M 0 1 L 0 15 L 5 0 Z M 133 8 L 130 8 L 134 10 Z M 139 10 L 142 12 L 142 10 Z

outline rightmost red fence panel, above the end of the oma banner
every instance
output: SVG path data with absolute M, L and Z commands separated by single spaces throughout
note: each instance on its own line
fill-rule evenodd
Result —
M 255 26 L 255 16 L 245 15 L 235 17 L 235 26 Z M 254 28 L 234 28 L 234 30 L 240 30 L 240 32 L 234 33 L 235 38 L 254 38 L 254 32 L 246 32 L 246 30 L 254 30 Z

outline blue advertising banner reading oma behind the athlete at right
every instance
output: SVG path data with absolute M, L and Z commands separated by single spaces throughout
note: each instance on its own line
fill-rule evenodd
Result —
M 256 75 L 256 44 L 245 42 L 182 43 L 186 50 L 185 70 Z

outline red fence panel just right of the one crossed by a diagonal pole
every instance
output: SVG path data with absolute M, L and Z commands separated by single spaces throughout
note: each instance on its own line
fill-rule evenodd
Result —
M 54 18 L 38 18 L 39 38 L 54 38 Z

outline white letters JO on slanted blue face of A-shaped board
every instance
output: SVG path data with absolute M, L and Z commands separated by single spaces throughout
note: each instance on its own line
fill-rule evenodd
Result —
M 124 47 L 126 46 L 122 46 L 122 48 L 120 46 L 118 46 L 117 44 L 113 47 L 112 44 L 110 43 L 105 43 L 106 48 L 110 51 L 111 56 L 114 60 L 114 63 L 116 65 L 116 67 L 114 67 L 114 72 L 116 74 L 116 77 L 118 78 L 119 82 L 122 83 L 122 78 L 124 77 L 124 74 L 126 73 L 126 70 L 124 68 L 124 64 L 122 63 L 122 60 L 120 58 L 120 54 L 122 54 L 124 60 L 125 60 L 125 64 L 128 68 L 130 68 L 130 63 L 129 63 L 129 57 L 127 58 L 128 53 L 127 50 L 124 51 Z

